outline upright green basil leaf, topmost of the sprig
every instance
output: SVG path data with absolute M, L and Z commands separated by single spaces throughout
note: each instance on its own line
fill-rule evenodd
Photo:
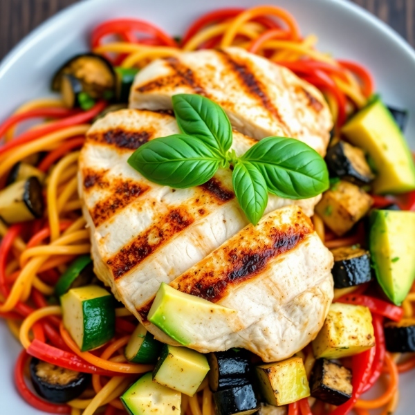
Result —
M 232 127 L 225 111 L 201 95 L 173 95 L 173 108 L 178 127 L 225 155 L 232 145 Z

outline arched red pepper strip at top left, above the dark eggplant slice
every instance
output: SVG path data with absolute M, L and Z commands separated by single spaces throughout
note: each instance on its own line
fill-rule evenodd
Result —
M 163 30 L 154 26 L 147 21 L 137 19 L 114 19 L 104 21 L 104 23 L 97 26 L 92 33 L 92 48 L 100 46 L 101 39 L 107 35 L 125 34 L 131 32 L 141 32 L 147 35 L 152 35 L 160 39 L 165 46 L 172 46 L 178 48 L 178 44 L 172 37 L 167 35 Z

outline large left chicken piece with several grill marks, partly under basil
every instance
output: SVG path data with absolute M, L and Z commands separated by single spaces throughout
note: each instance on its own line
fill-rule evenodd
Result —
M 161 282 L 172 282 L 248 225 L 229 169 L 205 185 L 174 190 L 147 181 L 127 164 L 143 143 L 174 133 L 178 126 L 168 113 L 109 113 L 91 127 L 80 156 L 79 191 L 95 273 L 139 319 L 138 310 Z M 254 143 L 234 132 L 237 154 Z M 295 204 L 311 215 L 319 200 L 270 195 L 266 212 Z

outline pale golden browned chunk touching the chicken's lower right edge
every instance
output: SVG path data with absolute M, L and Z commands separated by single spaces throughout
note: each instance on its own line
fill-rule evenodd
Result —
M 317 359 L 345 358 L 374 347 L 374 326 L 369 308 L 331 304 L 323 327 L 312 344 Z

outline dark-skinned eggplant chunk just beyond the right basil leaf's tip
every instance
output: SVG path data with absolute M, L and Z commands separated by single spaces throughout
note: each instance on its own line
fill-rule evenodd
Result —
M 348 142 L 339 141 L 329 147 L 326 163 L 331 176 L 344 178 L 356 185 L 367 185 L 375 178 L 363 150 Z

